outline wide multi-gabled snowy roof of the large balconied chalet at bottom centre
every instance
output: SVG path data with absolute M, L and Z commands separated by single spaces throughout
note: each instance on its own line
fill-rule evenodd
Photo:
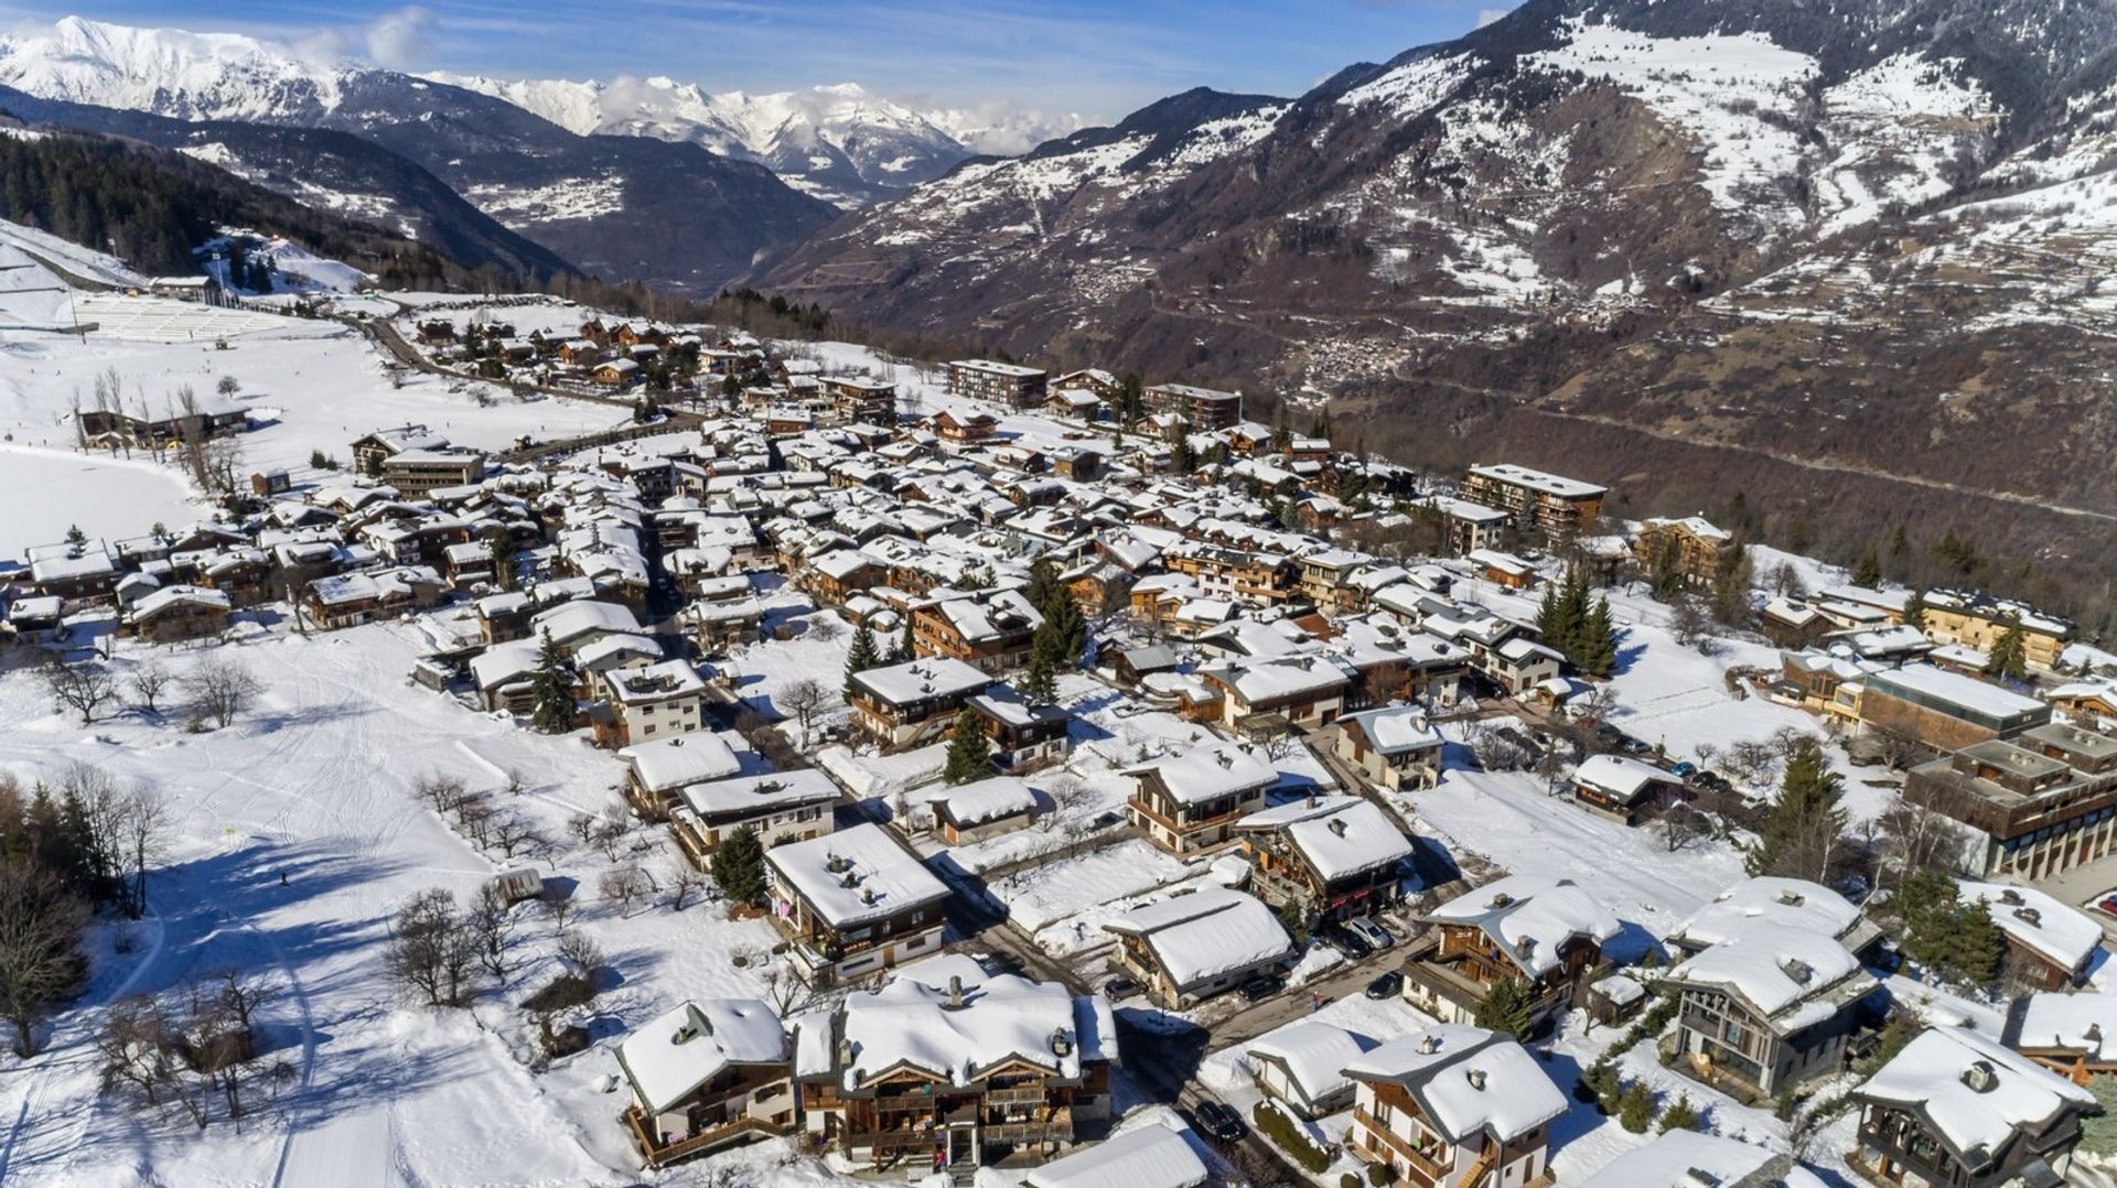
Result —
M 870 826 L 872 828 L 872 826 Z M 781 847 L 783 849 L 783 847 Z M 883 989 L 845 1000 L 838 1067 L 847 1091 L 912 1067 L 972 1084 L 1008 1063 L 1082 1076 L 1082 1061 L 1116 1057 L 1116 1021 L 1101 995 L 1014 974 L 984 976 L 974 961 L 940 959 Z

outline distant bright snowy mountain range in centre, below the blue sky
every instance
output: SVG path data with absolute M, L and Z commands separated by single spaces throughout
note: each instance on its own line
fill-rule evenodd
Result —
M 580 136 L 680 140 L 758 161 L 788 184 L 847 208 L 940 178 L 974 152 L 1020 152 L 1080 125 L 1010 108 L 921 112 L 857 83 L 754 95 L 707 93 L 694 83 L 658 76 L 610 83 L 428 78 L 506 100 Z

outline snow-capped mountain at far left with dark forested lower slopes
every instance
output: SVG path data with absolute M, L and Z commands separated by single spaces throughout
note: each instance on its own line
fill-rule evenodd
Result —
M 605 277 L 709 290 L 836 216 L 768 167 L 701 144 L 578 136 L 491 95 L 248 36 L 66 17 L 0 36 L 0 87 L 44 104 L 17 114 L 186 148 L 296 201 L 385 220 L 419 205 L 390 167 L 334 169 L 318 193 L 313 176 L 339 161 L 328 146 L 235 125 L 351 133 Z M 110 112 L 165 116 L 197 136 Z

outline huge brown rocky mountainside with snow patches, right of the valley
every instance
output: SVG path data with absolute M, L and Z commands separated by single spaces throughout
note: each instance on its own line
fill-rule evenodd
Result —
M 965 163 L 762 280 L 1641 504 L 1708 487 L 1685 445 L 2117 512 L 2113 57 L 2113 0 L 1531 0 Z

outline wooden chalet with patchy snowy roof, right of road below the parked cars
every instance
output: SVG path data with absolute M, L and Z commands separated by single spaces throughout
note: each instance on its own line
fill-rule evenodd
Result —
M 1421 917 L 1433 925 L 1404 961 L 1404 997 L 1427 1014 L 1469 1023 L 1495 985 L 1524 983 L 1531 1021 L 1577 1006 L 1603 970 L 1603 944 L 1622 925 L 1571 879 L 1507 875 Z

